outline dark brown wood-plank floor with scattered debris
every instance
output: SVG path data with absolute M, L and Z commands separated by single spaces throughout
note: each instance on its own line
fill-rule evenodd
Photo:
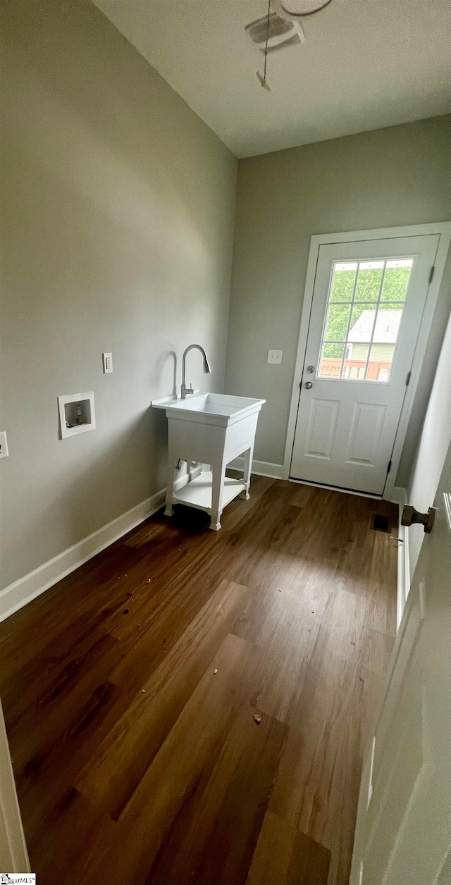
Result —
M 395 632 L 385 502 L 254 477 L 148 519 L 0 625 L 39 885 L 348 885 Z

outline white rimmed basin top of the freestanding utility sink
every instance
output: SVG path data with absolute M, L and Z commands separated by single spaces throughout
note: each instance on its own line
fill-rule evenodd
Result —
M 153 400 L 156 409 L 165 409 L 168 418 L 171 412 L 177 417 L 188 421 L 199 421 L 203 424 L 218 424 L 226 427 L 260 412 L 264 399 L 249 399 L 248 396 L 227 396 L 222 393 L 203 393 L 177 399 L 175 396 Z

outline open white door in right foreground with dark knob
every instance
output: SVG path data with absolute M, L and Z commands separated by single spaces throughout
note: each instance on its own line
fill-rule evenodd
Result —
M 451 446 L 363 768 L 351 885 L 451 882 Z

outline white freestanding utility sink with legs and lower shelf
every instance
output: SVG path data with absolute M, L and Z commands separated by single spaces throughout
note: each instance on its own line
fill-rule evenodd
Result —
M 218 393 L 152 401 L 152 408 L 164 409 L 168 419 L 167 516 L 172 516 L 173 504 L 186 504 L 210 513 L 210 528 L 218 531 L 226 504 L 239 495 L 248 499 L 256 422 L 264 403 Z M 226 477 L 226 466 L 243 453 L 242 479 Z M 180 459 L 199 466 L 177 480 Z

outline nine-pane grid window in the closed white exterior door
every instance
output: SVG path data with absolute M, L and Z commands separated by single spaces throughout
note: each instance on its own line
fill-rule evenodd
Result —
M 413 258 L 334 262 L 319 378 L 387 383 Z

